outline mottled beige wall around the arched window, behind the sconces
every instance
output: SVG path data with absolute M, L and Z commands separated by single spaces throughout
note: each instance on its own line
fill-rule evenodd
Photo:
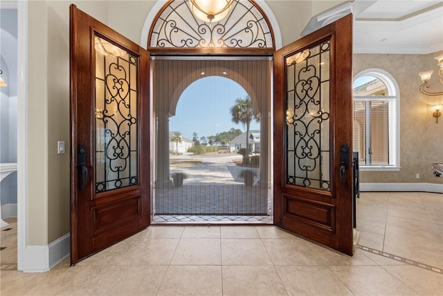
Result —
M 435 123 L 432 106 L 419 92 L 422 80 L 418 76 L 420 71 L 437 71 L 433 59 L 437 55 L 354 55 L 354 75 L 364 69 L 383 69 L 395 78 L 400 89 L 401 168 L 395 172 L 361 172 L 361 182 L 443 184 L 443 177 L 434 177 L 431 170 L 431 164 L 443 161 L 443 121 Z M 433 80 L 437 82 L 436 73 Z

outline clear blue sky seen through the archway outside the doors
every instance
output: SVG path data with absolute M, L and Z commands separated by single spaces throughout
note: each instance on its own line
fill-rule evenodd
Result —
M 210 76 L 193 82 L 179 98 L 175 116 L 170 118 L 169 129 L 181 132 L 192 140 L 197 132 L 201 137 L 215 136 L 238 128 L 246 132 L 246 125 L 231 121 L 230 107 L 236 98 L 244 98 L 246 91 L 237 82 L 221 76 Z M 251 122 L 251 130 L 260 130 L 260 123 Z

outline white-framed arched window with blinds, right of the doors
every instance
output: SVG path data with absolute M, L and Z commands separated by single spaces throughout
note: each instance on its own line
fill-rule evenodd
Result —
M 399 170 L 399 87 L 381 69 L 354 77 L 353 150 L 362 171 Z

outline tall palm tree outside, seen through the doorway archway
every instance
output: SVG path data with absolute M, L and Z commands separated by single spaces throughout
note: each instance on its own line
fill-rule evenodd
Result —
M 249 125 L 253 119 L 255 119 L 256 122 L 260 121 L 260 118 L 254 114 L 251 97 L 246 95 L 244 98 L 236 98 L 235 105 L 230 107 L 230 114 L 233 116 L 232 121 L 234 123 L 242 123 L 243 125 L 246 125 L 246 153 L 243 156 L 243 162 L 244 164 L 248 164 Z

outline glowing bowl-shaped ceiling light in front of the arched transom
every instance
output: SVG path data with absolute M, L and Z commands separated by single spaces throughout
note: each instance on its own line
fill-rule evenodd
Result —
M 217 22 L 224 19 L 234 0 L 190 0 L 192 13 L 204 22 Z

